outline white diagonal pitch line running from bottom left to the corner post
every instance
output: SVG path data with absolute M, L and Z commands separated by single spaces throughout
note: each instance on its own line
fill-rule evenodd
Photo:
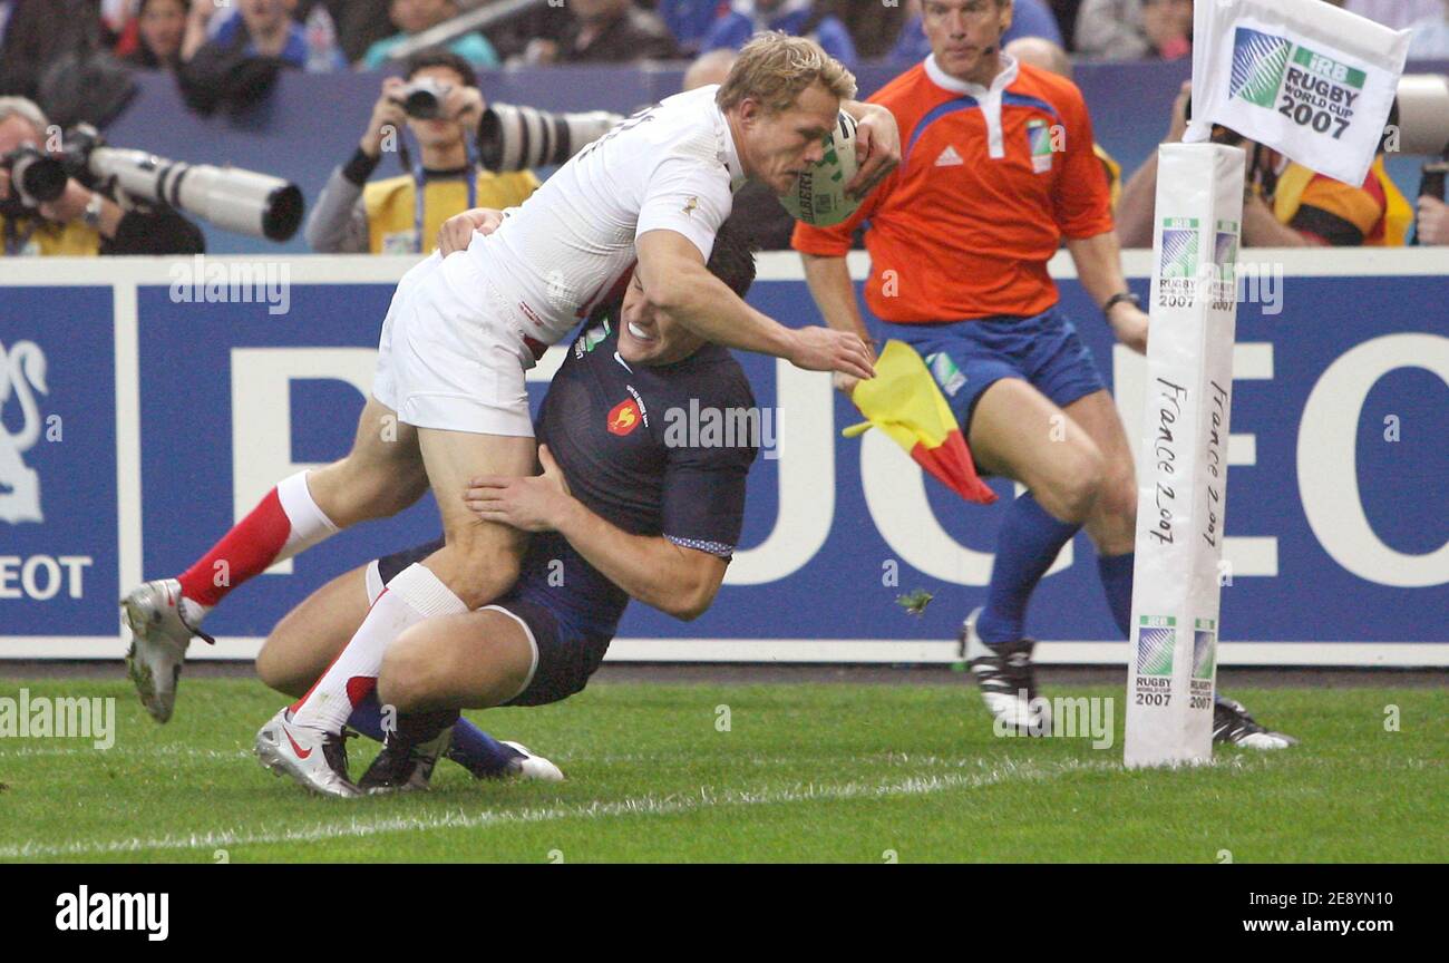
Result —
M 756 789 L 756 791 L 717 791 L 711 786 L 700 786 L 688 794 L 669 794 L 665 796 L 643 795 L 617 799 L 613 802 L 590 802 L 584 805 L 548 807 L 533 809 L 488 809 L 478 814 L 446 812 L 427 817 L 388 817 L 381 820 L 365 820 L 354 817 L 341 824 L 317 824 L 301 830 L 287 830 L 284 833 L 251 833 L 243 830 L 223 830 L 216 833 L 201 833 L 191 836 L 162 836 L 158 838 L 132 837 L 128 840 L 110 841 L 80 841 L 65 846 L 38 846 L 25 843 L 22 846 L 0 847 L 0 859 L 52 859 L 65 856 L 101 856 L 116 853 L 143 853 L 149 850 L 206 850 L 225 849 L 229 846 L 258 846 L 271 843 L 316 843 L 333 838 L 362 838 L 385 833 L 426 833 L 432 830 L 478 828 L 500 824 L 551 823 L 555 820 L 597 820 L 614 815 L 674 815 L 709 807 L 736 805 L 781 805 L 810 801 L 839 801 L 839 799 L 871 799 L 891 796 L 916 796 L 936 792 L 951 792 L 955 789 L 980 789 L 1010 781 L 1037 782 L 1055 779 L 1072 772 L 1120 769 L 1117 762 L 1081 762 L 1069 760 L 1058 765 L 1039 766 L 1035 763 L 1006 763 L 995 769 L 978 775 L 929 775 L 913 776 L 895 782 L 868 783 L 803 783 L 788 789 Z

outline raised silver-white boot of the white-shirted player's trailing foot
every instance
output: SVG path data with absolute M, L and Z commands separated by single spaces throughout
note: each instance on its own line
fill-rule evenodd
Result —
M 165 723 L 177 701 L 177 681 L 193 636 L 214 642 L 201 631 L 200 621 L 187 620 L 181 582 L 174 578 L 146 582 L 120 600 L 120 610 L 130 628 L 126 675 L 151 718 Z

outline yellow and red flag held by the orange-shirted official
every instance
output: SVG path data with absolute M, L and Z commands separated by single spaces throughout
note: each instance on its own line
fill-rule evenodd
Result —
M 956 416 L 910 345 L 885 342 L 885 350 L 875 361 L 875 377 L 855 385 L 851 401 L 868 420 L 845 429 L 845 437 L 877 427 L 966 501 L 982 505 L 995 501 L 995 492 L 977 475 Z

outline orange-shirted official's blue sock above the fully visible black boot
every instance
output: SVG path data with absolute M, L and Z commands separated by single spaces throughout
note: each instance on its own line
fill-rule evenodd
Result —
M 995 646 L 1022 640 L 1032 591 L 1078 529 L 1049 516 L 1032 492 L 1011 502 L 997 534 L 987 604 L 977 620 L 981 642 Z

